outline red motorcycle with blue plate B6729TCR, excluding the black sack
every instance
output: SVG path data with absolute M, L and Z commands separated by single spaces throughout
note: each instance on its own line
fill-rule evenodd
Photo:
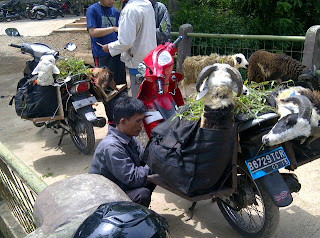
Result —
M 148 137 L 153 128 L 168 120 L 178 106 L 184 104 L 178 87 L 182 75 L 173 71 L 173 56 L 181 39 L 180 36 L 174 43 L 157 46 L 138 66 L 137 77 L 142 84 L 137 98 L 148 108 L 144 118 Z M 278 118 L 278 114 L 272 112 L 236 121 L 236 146 L 231 164 L 217 189 L 187 196 L 158 174 L 149 175 L 148 180 L 192 202 L 191 214 L 186 220 L 192 218 L 198 201 L 210 199 L 217 202 L 227 222 L 242 236 L 270 237 L 279 224 L 279 207 L 290 205 L 292 193 L 301 188 L 297 176 L 291 171 L 320 155 L 319 140 L 308 147 L 300 145 L 298 140 L 272 147 L 263 145 L 262 136 L 269 132 Z M 289 172 L 280 173 L 281 168 Z

